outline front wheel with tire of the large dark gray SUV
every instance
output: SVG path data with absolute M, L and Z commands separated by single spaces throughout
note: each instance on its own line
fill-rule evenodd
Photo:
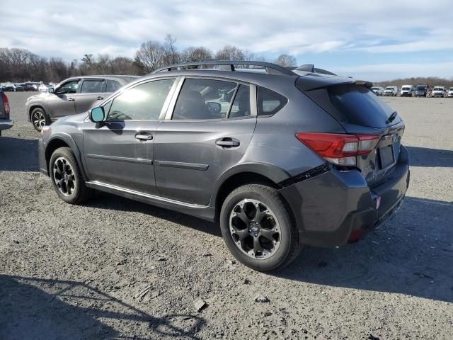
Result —
M 50 157 L 49 174 L 52 186 L 64 202 L 80 204 L 91 196 L 92 191 L 85 186 L 79 164 L 69 147 L 54 151 Z

